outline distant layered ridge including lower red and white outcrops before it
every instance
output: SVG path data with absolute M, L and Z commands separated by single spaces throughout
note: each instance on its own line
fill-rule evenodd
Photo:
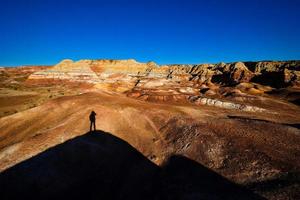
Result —
M 190 102 L 189 98 L 199 96 L 200 104 L 256 112 L 262 110 L 234 101 L 262 95 L 272 88 L 300 87 L 300 61 L 159 66 L 133 59 L 63 60 L 34 72 L 26 82 L 89 84 L 94 89 L 125 93 L 147 101 Z M 232 97 L 234 101 L 223 102 L 220 99 L 224 97 Z

